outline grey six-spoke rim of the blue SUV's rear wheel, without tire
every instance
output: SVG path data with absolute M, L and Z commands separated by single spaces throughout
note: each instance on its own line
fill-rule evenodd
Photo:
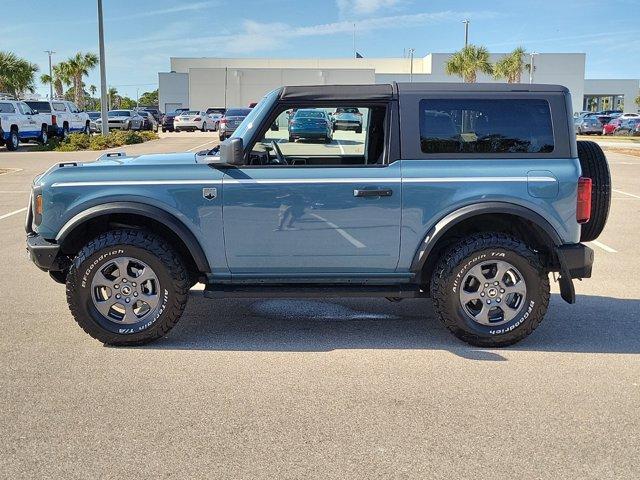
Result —
M 460 304 L 481 325 L 502 325 L 513 320 L 525 305 L 527 285 L 520 271 L 503 260 L 472 267 L 462 280 Z

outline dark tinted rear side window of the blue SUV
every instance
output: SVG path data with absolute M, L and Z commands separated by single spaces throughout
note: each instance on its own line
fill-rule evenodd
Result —
M 424 153 L 550 153 L 549 103 L 543 99 L 424 99 L 420 101 Z

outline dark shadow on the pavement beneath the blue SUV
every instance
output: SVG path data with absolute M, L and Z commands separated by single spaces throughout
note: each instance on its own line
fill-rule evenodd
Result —
M 640 300 L 552 295 L 547 317 L 520 351 L 640 353 Z M 410 299 L 229 299 L 194 296 L 182 320 L 151 349 L 317 352 L 441 349 L 501 361 L 500 350 L 471 347 L 435 318 L 431 301 Z

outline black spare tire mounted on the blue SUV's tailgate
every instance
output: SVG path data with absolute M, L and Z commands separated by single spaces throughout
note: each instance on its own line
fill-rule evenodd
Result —
M 591 219 L 582 224 L 581 242 L 598 238 L 609 217 L 611 206 L 611 174 L 602 148 L 595 142 L 578 141 L 578 159 L 582 176 L 592 181 Z

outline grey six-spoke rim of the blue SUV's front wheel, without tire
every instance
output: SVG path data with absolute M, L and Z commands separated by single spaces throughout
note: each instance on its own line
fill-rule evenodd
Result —
M 158 308 L 160 282 L 146 263 L 132 257 L 113 258 L 93 276 L 91 300 L 111 322 L 138 323 Z

